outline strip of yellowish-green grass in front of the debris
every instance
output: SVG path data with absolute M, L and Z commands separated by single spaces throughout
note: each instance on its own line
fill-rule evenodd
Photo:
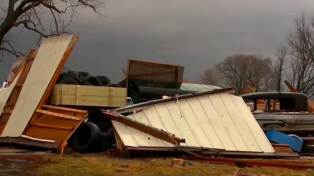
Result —
M 37 175 L 232 175 L 233 165 L 186 160 L 184 167 L 171 166 L 174 158 L 110 158 L 46 156 L 43 165 L 34 170 Z M 154 160 L 154 161 L 152 161 Z M 282 162 L 282 161 L 280 161 Z M 292 170 L 273 167 L 243 168 L 240 173 L 262 175 L 314 175 L 312 170 Z

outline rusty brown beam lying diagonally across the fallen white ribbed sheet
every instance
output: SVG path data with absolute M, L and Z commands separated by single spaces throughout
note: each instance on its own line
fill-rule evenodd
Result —
M 175 145 L 179 145 L 180 143 L 185 143 L 185 139 L 176 137 L 172 133 L 166 132 L 166 131 L 159 129 L 159 128 L 149 126 L 145 123 L 141 123 L 141 122 L 132 120 L 130 118 L 127 118 L 124 115 L 114 113 L 114 112 L 108 112 L 106 110 L 101 110 L 101 113 L 104 114 L 106 117 L 110 118 L 111 120 L 115 120 L 117 122 L 123 123 L 127 126 L 138 129 L 144 133 L 150 134 L 156 138 L 163 139 L 163 140 L 170 142 L 170 143 L 173 143 Z

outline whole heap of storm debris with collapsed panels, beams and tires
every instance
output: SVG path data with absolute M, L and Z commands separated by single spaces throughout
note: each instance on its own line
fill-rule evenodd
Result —
M 0 89 L 0 143 L 59 153 L 65 148 L 110 151 L 125 157 L 179 153 L 247 165 L 279 163 L 206 157 L 300 157 L 303 140 L 263 131 L 253 115 L 257 105 L 252 113 L 244 101 L 251 95 L 236 96 L 231 87 L 182 83 L 181 66 L 129 60 L 125 79 L 117 84 L 106 76 L 62 72 L 77 39 L 45 38 L 38 50 L 16 64 L 17 71 Z M 270 101 L 263 103 L 269 110 Z M 184 165 L 183 160 L 176 163 Z

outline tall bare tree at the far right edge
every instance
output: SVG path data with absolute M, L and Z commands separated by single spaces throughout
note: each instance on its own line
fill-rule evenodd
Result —
M 306 15 L 294 21 L 294 28 L 287 36 L 291 55 L 288 80 L 299 92 L 314 95 L 314 26 Z

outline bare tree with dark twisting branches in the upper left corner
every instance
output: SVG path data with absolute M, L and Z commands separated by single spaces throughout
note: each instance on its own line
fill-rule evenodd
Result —
M 67 33 L 66 28 L 72 22 L 72 17 L 79 7 L 92 9 L 95 13 L 101 15 L 98 11 L 104 6 L 103 0 L 6 0 L 0 3 L 0 51 L 9 56 L 24 55 L 16 50 L 14 41 L 5 39 L 5 35 L 14 27 L 23 27 L 39 35 L 39 40 L 44 37 L 57 36 Z M 53 26 L 49 32 L 42 23 L 45 14 L 51 14 Z M 62 14 L 70 13 L 71 17 L 68 23 L 62 19 Z M 38 41 L 39 43 L 39 41 Z M 1 59 L 0 59 L 1 60 Z

